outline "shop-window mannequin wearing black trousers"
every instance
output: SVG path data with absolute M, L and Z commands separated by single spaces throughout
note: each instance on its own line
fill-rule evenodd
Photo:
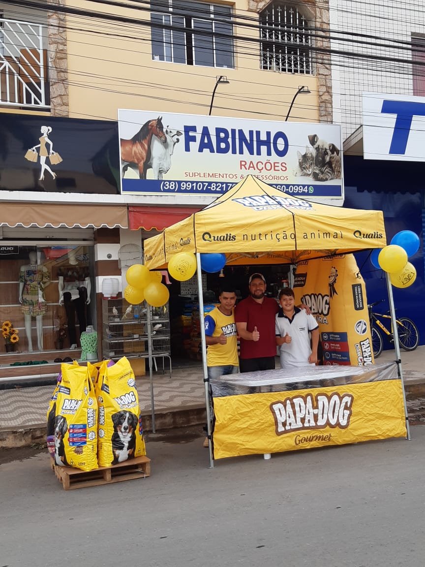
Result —
M 86 331 L 87 305 L 90 304 L 91 281 L 86 266 L 79 266 L 75 250 L 68 252 L 69 265 L 58 271 L 59 305 L 65 306 L 71 349 L 76 348 L 75 315 L 79 335 Z

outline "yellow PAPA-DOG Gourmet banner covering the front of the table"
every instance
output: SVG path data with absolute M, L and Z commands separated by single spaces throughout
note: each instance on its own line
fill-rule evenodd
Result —
M 400 379 L 214 397 L 214 459 L 406 437 Z

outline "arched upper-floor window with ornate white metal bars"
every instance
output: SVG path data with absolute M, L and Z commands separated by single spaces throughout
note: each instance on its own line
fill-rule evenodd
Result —
M 312 73 L 308 20 L 290 4 L 272 2 L 260 12 L 261 69 Z

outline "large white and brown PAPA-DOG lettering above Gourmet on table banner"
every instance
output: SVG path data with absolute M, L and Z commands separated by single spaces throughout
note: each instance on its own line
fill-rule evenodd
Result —
M 311 393 L 306 396 L 287 397 L 270 404 L 276 435 L 297 430 L 324 429 L 326 427 L 346 429 L 350 425 L 353 396 L 349 393 L 329 396 Z

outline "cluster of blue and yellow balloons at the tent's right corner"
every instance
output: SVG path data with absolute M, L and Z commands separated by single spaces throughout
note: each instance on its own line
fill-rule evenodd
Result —
M 419 250 L 419 236 L 411 230 L 402 230 L 393 236 L 389 246 L 373 250 L 371 262 L 375 268 L 390 274 L 393 286 L 404 289 L 416 280 L 416 269 L 407 261 Z

